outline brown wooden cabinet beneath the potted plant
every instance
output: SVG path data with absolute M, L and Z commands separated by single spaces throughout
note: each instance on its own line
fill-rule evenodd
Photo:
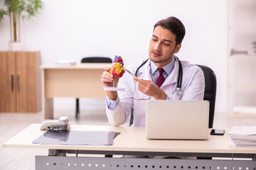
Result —
M 40 52 L 0 52 L 0 112 L 41 111 Z

